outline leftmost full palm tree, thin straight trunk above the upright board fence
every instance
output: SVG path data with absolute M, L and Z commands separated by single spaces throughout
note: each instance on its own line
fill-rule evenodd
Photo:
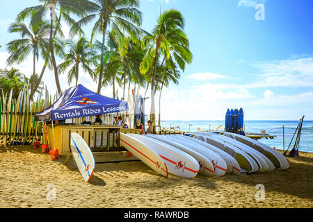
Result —
M 38 24 L 26 26 L 24 23 L 13 22 L 10 25 L 10 33 L 20 33 L 22 39 L 13 40 L 7 44 L 7 49 L 11 53 L 8 57 L 8 65 L 23 62 L 29 53 L 33 53 L 33 75 L 35 75 L 35 64 L 39 54 L 45 53 L 45 46 L 48 43 L 49 23 L 39 22 Z M 31 83 L 31 95 L 33 95 L 34 81 Z M 32 99 L 32 98 L 31 98 Z

